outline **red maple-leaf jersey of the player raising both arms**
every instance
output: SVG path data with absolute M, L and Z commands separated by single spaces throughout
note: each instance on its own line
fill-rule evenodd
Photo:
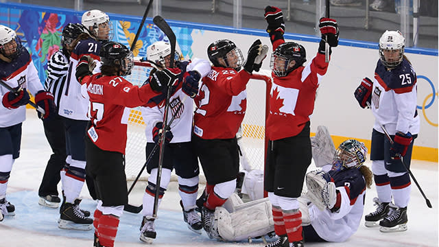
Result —
M 298 67 L 285 77 L 272 73 L 268 139 L 294 137 L 302 131 L 313 113 L 316 91 L 327 68 L 324 54 L 318 53 L 305 67 Z

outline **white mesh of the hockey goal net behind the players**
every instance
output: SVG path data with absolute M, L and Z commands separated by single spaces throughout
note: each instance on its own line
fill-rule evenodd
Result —
M 141 86 L 148 78 L 152 70 L 148 62 L 135 62 L 131 75 L 126 79 L 134 85 Z M 267 110 L 265 102 L 268 102 L 269 86 L 271 84 L 270 72 L 260 71 L 254 73 L 247 84 L 247 110 L 241 131 L 237 134 L 238 143 L 243 156 L 241 157 L 240 170 L 250 172 L 252 169 L 263 170 L 265 161 L 265 118 Z M 128 132 L 126 144 L 126 177 L 128 181 L 134 180 L 145 164 L 145 121 L 141 115 L 140 107 L 132 108 L 128 117 Z M 166 154 L 165 154 L 166 155 Z M 201 167 L 201 166 L 200 166 Z M 144 171 L 139 180 L 147 179 Z M 173 172 L 172 180 L 176 180 Z M 200 182 L 205 183 L 206 178 L 202 171 Z

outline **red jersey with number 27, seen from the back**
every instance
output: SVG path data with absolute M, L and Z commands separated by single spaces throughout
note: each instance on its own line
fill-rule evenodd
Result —
M 88 117 L 92 124 L 88 137 L 102 150 L 125 154 L 129 108 L 143 106 L 160 93 L 152 91 L 150 84 L 139 88 L 119 76 L 101 73 L 83 82 L 90 97 Z

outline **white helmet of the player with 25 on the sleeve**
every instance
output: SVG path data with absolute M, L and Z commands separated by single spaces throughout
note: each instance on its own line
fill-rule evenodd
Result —
M 384 34 L 379 38 L 379 59 L 385 67 L 393 68 L 398 66 L 403 61 L 405 47 L 405 38 L 399 30 L 388 31 L 386 30 Z M 386 60 L 384 56 L 384 51 L 399 51 L 399 55 L 392 59 L 391 61 Z

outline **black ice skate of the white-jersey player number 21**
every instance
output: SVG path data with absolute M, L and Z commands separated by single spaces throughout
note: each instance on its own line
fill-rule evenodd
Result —
M 58 227 L 62 229 L 72 229 L 88 231 L 93 227 L 93 219 L 85 217 L 80 211 L 80 200 L 76 199 L 75 203 L 66 202 L 63 206 Z

